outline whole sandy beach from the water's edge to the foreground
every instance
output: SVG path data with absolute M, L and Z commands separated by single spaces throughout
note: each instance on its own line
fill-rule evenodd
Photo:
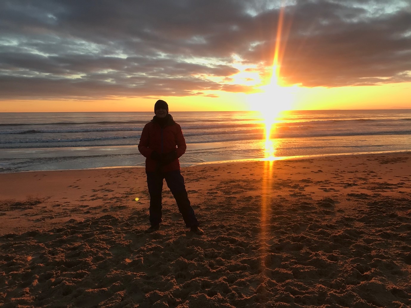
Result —
M 182 172 L 203 236 L 143 168 L 0 174 L 2 307 L 411 306 L 411 152 Z

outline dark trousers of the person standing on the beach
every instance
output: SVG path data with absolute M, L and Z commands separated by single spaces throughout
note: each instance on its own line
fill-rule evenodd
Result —
M 194 209 L 188 199 L 185 189 L 184 177 L 180 170 L 169 172 L 146 172 L 147 186 L 150 193 L 150 224 L 157 225 L 162 222 L 162 191 L 163 179 L 166 180 L 171 193 L 177 202 L 178 210 L 184 219 L 185 226 L 195 227 L 199 225 Z

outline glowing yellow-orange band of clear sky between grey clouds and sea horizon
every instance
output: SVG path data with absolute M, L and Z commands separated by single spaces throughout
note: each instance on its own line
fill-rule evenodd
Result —
M 267 101 L 280 103 L 283 110 L 328 109 L 409 109 L 411 83 L 356 87 L 283 87 L 279 97 L 274 91 L 254 94 L 220 93 L 209 97 L 159 97 L 169 103 L 171 111 L 242 111 L 271 110 Z M 278 90 L 278 88 L 277 88 Z M 281 92 L 285 92 L 281 93 Z M 284 97 L 285 95 L 285 97 Z M 157 98 L 117 98 L 108 100 L 3 100 L 0 112 L 133 112 L 152 111 Z M 266 106 L 266 107 L 264 107 Z

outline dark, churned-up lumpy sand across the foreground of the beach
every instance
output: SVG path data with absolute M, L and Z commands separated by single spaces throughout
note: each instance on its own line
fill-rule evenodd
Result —
M 144 234 L 143 210 L 5 234 L 1 300 L 4 307 L 411 305 L 410 199 L 366 202 L 355 215 L 334 211 L 330 198 L 272 206 L 266 225 L 258 215 L 249 220 L 250 210 L 260 211 L 253 200 L 246 209 L 224 202 L 228 220 L 203 202 L 204 236 L 175 223 Z

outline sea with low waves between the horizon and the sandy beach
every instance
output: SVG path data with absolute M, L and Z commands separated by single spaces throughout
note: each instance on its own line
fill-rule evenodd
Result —
M 0 172 L 143 166 L 137 144 L 152 112 L 0 113 Z M 266 149 L 261 113 L 173 112 L 183 166 L 204 162 L 411 151 L 411 109 L 288 111 Z

